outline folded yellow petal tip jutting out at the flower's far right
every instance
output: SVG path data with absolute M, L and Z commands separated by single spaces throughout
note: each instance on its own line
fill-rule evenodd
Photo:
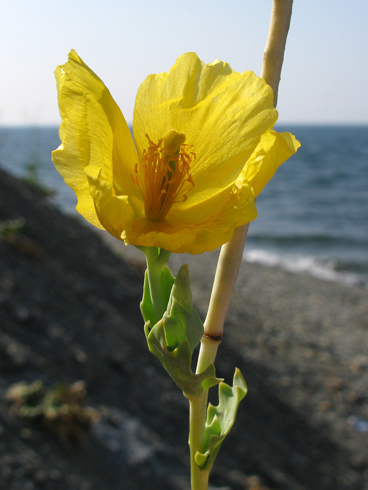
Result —
M 245 165 L 241 176 L 251 183 L 254 196 L 258 196 L 278 167 L 300 147 L 290 133 L 267 131 Z

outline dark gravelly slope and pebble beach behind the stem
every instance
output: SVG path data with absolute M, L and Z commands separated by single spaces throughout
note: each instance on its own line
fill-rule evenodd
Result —
M 101 419 L 72 451 L 1 400 L 0 488 L 185 489 L 187 403 L 146 347 L 137 263 L 0 172 L 0 221 L 16 218 L 16 239 L 0 239 L 1 394 L 84 380 Z M 189 263 L 201 314 L 215 255 L 171 259 Z M 348 423 L 368 420 L 367 341 L 367 290 L 245 265 L 216 366 L 228 382 L 240 368 L 249 392 L 212 484 L 367 489 L 368 434 Z

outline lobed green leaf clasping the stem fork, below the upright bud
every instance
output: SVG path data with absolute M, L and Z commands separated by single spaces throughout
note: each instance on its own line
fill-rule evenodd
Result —
M 216 378 L 213 363 L 200 374 L 192 372 L 190 368 L 192 350 L 187 339 L 176 349 L 168 350 L 164 322 L 165 319 L 161 319 L 152 329 L 149 322 L 145 324 L 144 331 L 148 347 L 158 357 L 171 378 L 184 392 L 184 396 L 187 398 L 200 396 L 211 386 L 220 383 L 222 379 Z

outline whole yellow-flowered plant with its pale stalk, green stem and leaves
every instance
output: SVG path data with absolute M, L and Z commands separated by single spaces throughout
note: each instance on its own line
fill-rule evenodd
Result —
M 146 256 L 141 311 L 148 347 L 189 401 L 192 490 L 210 469 L 247 387 L 215 375 L 214 360 L 237 278 L 255 199 L 299 143 L 273 130 L 291 0 L 274 0 L 259 78 L 222 61 L 180 56 L 169 73 L 138 89 L 131 136 L 101 79 L 75 51 L 56 69 L 61 145 L 56 169 L 75 191 L 77 210 Z M 225 244 L 225 245 L 224 245 Z M 174 277 L 171 253 L 223 245 L 207 318 L 192 306 L 187 266 Z M 192 355 L 200 345 L 197 368 Z M 208 390 L 218 385 L 217 406 Z

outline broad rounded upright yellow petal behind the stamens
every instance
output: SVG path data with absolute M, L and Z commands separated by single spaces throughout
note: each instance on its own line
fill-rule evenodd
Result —
M 276 120 L 272 90 L 264 80 L 253 72 L 234 72 L 221 61 L 206 65 L 195 53 L 186 53 L 169 73 L 150 75 L 142 83 L 133 130 L 140 149 L 146 133 L 158 141 L 171 128 L 193 145 L 195 185 L 184 209 L 232 184 Z

